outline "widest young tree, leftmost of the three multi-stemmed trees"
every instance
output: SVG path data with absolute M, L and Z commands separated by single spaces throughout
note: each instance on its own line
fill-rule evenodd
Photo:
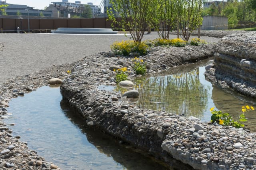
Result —
M 110 0 L 108 17 L 113 23 L 121 18 L 123 30 L 129 30 L 134 42 L 141 42 L 145 30 L 155 16 L 156 0 Z

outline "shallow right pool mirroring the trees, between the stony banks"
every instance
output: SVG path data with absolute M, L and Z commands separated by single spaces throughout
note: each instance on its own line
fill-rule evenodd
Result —
M 205 66 L 212 62 L 206 59 L 198 63 L 182 65 L 151 77 L 136 78 L 134 89 L 140 93 L 133 103 L 143 108 L 166 111 L 185 117 L 194 116 L 210 121 L 210 108 L 230 113 L 235 119 L 242 114 L 242 106 L 256 108 L 254 99 L 212 85 L 204 77 Z M 100 89 L 124 93 L 127 89 L 100 86 Z M 256 110 L 245 113 L 246 128 L 256 131 Z

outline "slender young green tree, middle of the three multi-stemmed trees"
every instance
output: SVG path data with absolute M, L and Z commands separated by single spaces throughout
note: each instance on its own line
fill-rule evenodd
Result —
M 156 15 L 153 26 L 162 39 L 169 39 L 170 32 L 177 26 L 177 1 L 157 0 Z

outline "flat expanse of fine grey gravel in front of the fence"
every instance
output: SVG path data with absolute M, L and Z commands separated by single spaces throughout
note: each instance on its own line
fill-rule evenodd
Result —
M 115 41 L 129 40 L 124 35 L 0 34 L 0 83 L 18 75 L 27 75 L 51 65 L 77 61 L 100 51 L 110 50 Z M 157 32 L 144 40 L 158 38 Z M 171 35 L 170 38 L 176 38 Z M 192 37 L 193 38 L 193 37 Z M 201 37 L 206 42 L 219 38 Z M 1 46 L 1 45 L 0 45 Z

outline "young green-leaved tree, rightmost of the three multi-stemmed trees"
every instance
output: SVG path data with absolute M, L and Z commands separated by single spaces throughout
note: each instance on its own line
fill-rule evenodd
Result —
M 192 31 L 202 25 L 202 0 L 177 0 L 178 22 L 182 38 L 189 40 Z

